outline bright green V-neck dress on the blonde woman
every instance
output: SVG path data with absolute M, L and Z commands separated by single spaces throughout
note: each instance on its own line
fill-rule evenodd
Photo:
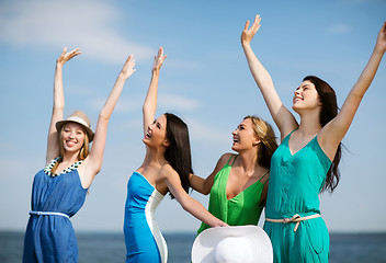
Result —
M 264 207 L 260 205 L 260 196 L 268 181 L 263 179 L 268 176 L 268 173 L 234 198 L 228 199 L 226 188 L 229 172 L 237 157 L 238 156 L 232 155 L 227 164 L 215 175 L 211 190 L 208 211 L 229 226 L 258 225 L 261 211 Z M 231 164 L 229 164 L 230 161 Z M 262 181 L 264 181 L 264 183 L 262 183 Z M 207 228 L 211 227 L 203 222 L 197 233 L 201 233 Z

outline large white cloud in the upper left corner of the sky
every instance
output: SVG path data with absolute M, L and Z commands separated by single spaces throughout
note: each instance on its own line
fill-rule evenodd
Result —
M 128 54 L 152 57 L 154 50 L 118 34 L 113 26 L 118 18 L 117 10 L 96 0 L 2 1 L 0 39 L 23 47 L 81 47 L 83 56 L 105 62 L 122 62 Z

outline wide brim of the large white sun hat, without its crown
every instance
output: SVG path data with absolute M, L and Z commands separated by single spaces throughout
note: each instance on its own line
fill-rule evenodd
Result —
M 209 228 L 201 232 L 193 243 L 192 263 L 216 262 L 214 253 L 216 245 L 229 237 L 242 238 L 256 248 L 253 252 L 259 258 L 258 262 L 273 262 L 271 240 L 262 228 L 258 226 L 234 226 Z

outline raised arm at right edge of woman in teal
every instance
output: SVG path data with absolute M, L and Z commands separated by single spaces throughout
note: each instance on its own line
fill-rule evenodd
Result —
M 386 50 L 386 22 L 382 25 L 376 44 L 367 65 L 359 80 L 351 89 L 341 111 L 319 133 L 318 140 L 327 156 L 332 160 L 339 142 L 343 139 L 360 106 L 360 103 L 372 83 L 381 60 Z

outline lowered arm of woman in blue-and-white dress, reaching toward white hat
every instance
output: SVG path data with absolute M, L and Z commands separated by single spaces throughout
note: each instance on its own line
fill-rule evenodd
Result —
M 180 203 L 182 208 L 189 211 L 192 216 L 197 218 L 198 220 L 205 222 L 211 227 L 226 227 L 228 226 L 224 221 L 219 220 L 217 217 L 213 216 L 205 207 L 192 198 L 181 186 L 181 181 L 178 173 L 172 169 L 168 169 L 166 171 L 168 174 L 167 184 L 171 194 L 175 197 L 175 199 Z

